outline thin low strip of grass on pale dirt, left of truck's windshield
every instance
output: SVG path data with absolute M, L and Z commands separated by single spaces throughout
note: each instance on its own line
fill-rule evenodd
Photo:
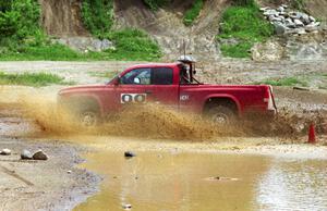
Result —
M 0 72 L 0 85 L 23 85 L 41 87 L 52 84 L 73 85 L 74 83 L 64 82 L 63 77 L 48 73 L 9 74 Z

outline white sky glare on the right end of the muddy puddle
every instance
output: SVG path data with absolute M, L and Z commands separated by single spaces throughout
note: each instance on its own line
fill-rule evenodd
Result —
M 276 160 L 258 185 L 261 210 L 327 210 L 327 162 Z

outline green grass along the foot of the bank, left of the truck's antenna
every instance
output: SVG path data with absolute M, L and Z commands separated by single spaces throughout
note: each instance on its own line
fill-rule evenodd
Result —
M 81 53 L 63 45 L 23 46 L 15 51 L 0 53 L 0 61 L 157 61 L 159 46 L 144 32 L 123 29 L 104 35 L 113 41 L 116 50 Z

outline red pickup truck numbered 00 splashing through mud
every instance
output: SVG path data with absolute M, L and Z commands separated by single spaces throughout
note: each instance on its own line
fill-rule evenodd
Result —
M 134 65 L 108 84 L 62 89 L 58 99 L 85 126 L 124 105 L 145 102 L 192 111 L 223 124 L 247 114 L 274 116 L 277 112 L 270 86 L 202 84 L 194 77 L 194 65 L 192 60 Z

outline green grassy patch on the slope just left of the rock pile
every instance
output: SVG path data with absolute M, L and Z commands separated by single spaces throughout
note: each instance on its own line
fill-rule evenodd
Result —
M 237 39 L 237 45 L 221 45 L 225 57 L 249 58 L 255 42 L 263 42 L 274 34 L 274 26 L 265 21 L 257 5 L 230 7 L 221 18 L 220 39 Z

